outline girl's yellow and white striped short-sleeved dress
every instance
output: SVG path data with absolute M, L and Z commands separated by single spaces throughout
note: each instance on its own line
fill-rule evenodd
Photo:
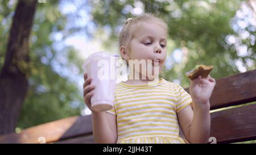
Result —
M 191 102 L 187 91 L 163 78 L 154 85 L 120 82 L 114 108 L 106 112 L 117 116 L 117 143 L 188 143 L 176 114 Z

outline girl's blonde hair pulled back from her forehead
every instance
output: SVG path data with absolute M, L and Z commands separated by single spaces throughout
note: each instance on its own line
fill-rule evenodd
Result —
M 155 16 L 154 14 L 146 13 L 146 14 L 137 16 L 136 18 L 128 18 L 126 20 L 125 26 L 123 26 L 119 34 L 119 48 L 122 45 L 126 46 L 127 49 L 130 48 L 129 41 L 133 39 L 135 29 L 137 28 L 136 26 L 138 25 L 138 23 L 142 23 L 142 22 L 156 22 L 158 24 L 161 24 L 166 29 L 166 32 L 168 32 L 168 26 L 166 22 L 164 22 L 163 19 Z

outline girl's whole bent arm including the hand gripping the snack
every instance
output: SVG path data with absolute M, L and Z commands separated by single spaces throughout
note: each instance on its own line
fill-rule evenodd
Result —
M 209 75 L 196 79 L 189 79 L 189 93 L 192 98 L 192 106 L 187 106 L 177 113 L 179 123 L 185 137 L 190 143 L 207 143 L 210 134 L 210 96 L 216 81 Z

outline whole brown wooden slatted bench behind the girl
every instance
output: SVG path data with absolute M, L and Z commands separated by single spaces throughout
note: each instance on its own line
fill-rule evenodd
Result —
M 217 79 L 210 98 L 214 110 L 210 137 L 216 137 L 217 143 L 255 140 L 255 101 L 256 70 Z M 73 116 L 2 135 L 0 143 L 94 143 L 91 116 Z

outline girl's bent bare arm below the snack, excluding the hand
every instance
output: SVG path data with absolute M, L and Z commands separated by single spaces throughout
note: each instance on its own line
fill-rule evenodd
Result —
M 192 103 L 193 104 L 193 103 Z M 207 143 L 210 133 L 210 104 L 185 107 L 177 117 L 184 136 L 190 143 Z

